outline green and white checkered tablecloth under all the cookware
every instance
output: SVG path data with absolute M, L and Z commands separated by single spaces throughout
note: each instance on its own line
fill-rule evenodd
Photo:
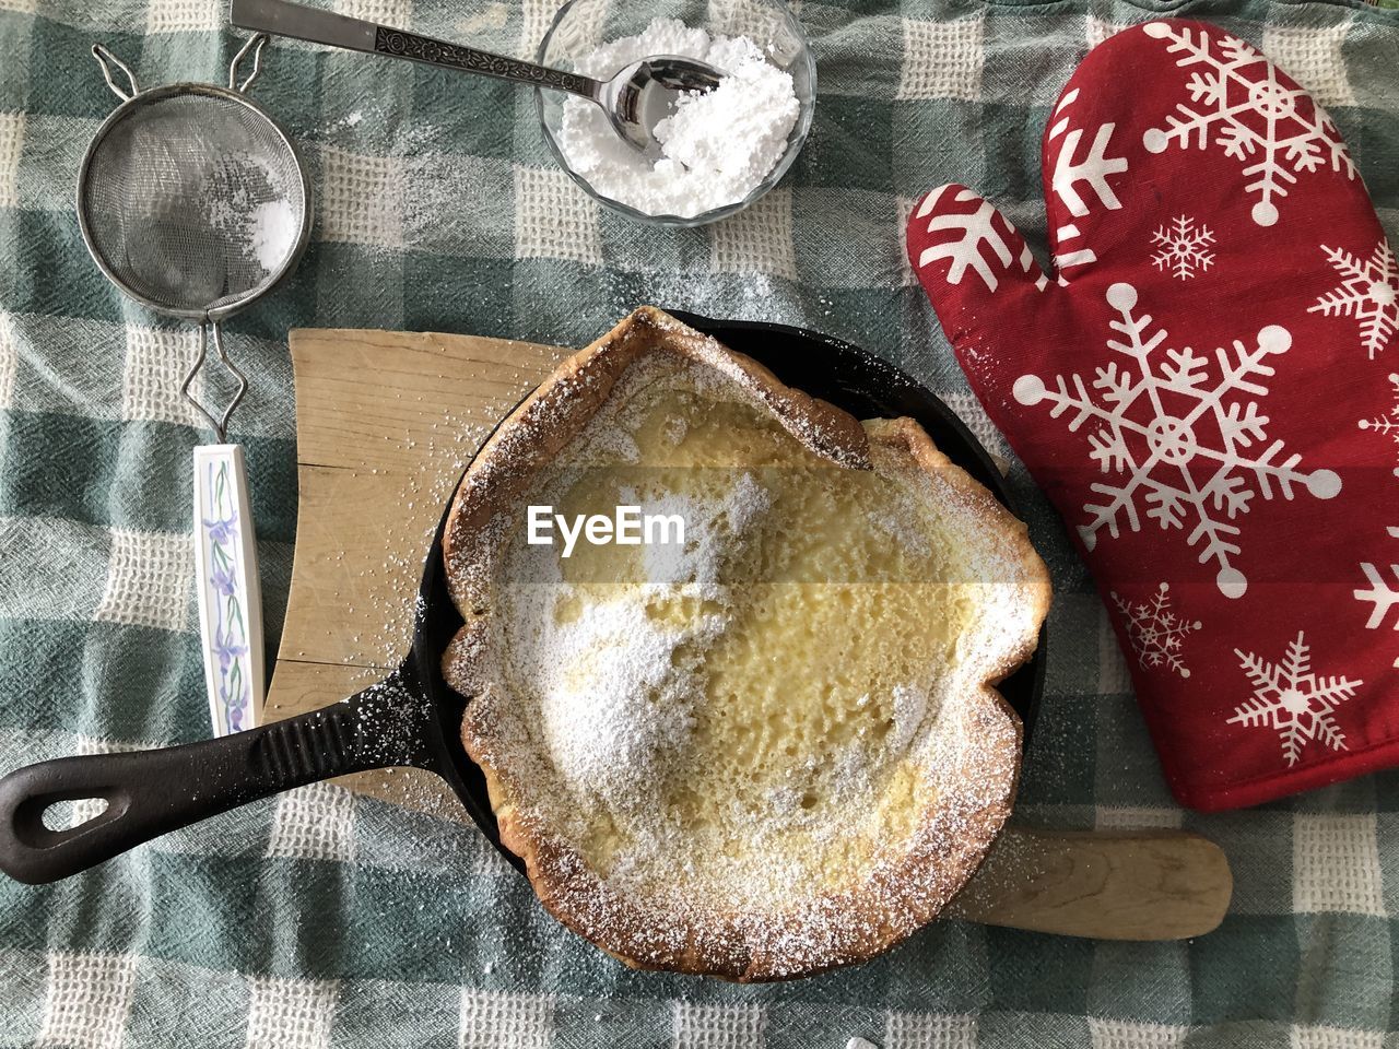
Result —
M 520 55 L 554 8 L 340 4 Z M 1221 20 L 1309 87 L 1399 234 L 1399 13 L 1358 4 L 802 0 L 821 87 L 800 161 L 747 213 L 683 232 L 590 203 L 523 92 L 276 43 L 255 94 L 302 143 L 318 208 L 294 280 L 229 338 L 253 376 L 234 429 L 269 650 L 295 526 L 292 326 L 581 344 L 639 302 L 806 324 L 911 369 L 1004 452 L 902 260 L 901 220 L 961 180 L 1042 245 L 1048 105 L 1088 45 L 1163 11 Z M 221 20 L 215 0 L 0 0 L 0 771 L 208 730 L 187 543 L 204 435 L 178 394 L 194 336 L 105 283 L 73 182 L 115 105 L 88 48 L 152 84 L 217 81 L 238 43 Z M 1059 590 L 1017 818 L 1210 835 L 1237 880 L 1219 932 L 1115 944 L 943 922 L 790 985 L 642 975 L 555 926 L 474 829 L 320 786 L 55 885 L 0 880 L 0 1045 L 1395 1045 L 1399 775 L 1209 818 L 1174 807 L 1102 607 L 1014 477 Z

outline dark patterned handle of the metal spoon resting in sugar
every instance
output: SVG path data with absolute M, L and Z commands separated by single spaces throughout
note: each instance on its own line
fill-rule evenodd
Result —
M 298 41 L 362 50 L 368 55 L 411 59 L 428 66 L 442 66 L 466 73 L 481 73 L 518 84 L 568 91 L 593 101 L 599 101 L 603 91 L 602 81 L 581 77 L 576 73 L 492 55 L 488 50 L 477 50 L 463 43 L 418 36 L 388 25 L 376 25 L 333 11 L 294 4 L 290 0 L 232 0 L 228 8 L 228 21 L 243 29 L 294 36 Z

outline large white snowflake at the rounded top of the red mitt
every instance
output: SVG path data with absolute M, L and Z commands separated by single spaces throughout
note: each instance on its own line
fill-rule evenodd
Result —
M 1167 41 L 1178 69 L 1198 66 L 1185 84 L 1191 104 L 1179 102 L 1142 137 L 1151 152 L 1172 143 L 1182 150 L 1219 145 L 1226 157 L 1244 164 L 1244 190 L 1256 194 L 1254 221 L 1277 222 L 1277 201 L 1287 196 L 1298 175 L 1322 166 L 1356 178 L 1336 124 L 1326 110 L 1300 87 L 1287 87 L 1273 66 L 1254 48 L 1234 36 L 1216 42 L 1205 29 L 1149 22 L 1149 36 Z M 1217 50 L 1216 50 L 1217 48 Z

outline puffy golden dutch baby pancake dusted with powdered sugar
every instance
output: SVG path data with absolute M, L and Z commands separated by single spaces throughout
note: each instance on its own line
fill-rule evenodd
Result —
M 443 548 L 466 621 L 443 671 L 501 842 L 631 965 L 870 958 L 1010 813 L 995 685 L 1048 573 L 911 420 L 860 422 L 642 308 L 485 443 Z

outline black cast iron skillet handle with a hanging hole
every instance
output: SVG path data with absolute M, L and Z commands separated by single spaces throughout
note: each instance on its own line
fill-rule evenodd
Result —
M 0 870 L 39 884 L 210 815 L 347 772 L 432 768 L 436 732 L 406 667 L 344 702 L 180 747 L 57 758 L 0 779 Z M 56 801 L 102 799 L 77 827 L 49 829 Z

